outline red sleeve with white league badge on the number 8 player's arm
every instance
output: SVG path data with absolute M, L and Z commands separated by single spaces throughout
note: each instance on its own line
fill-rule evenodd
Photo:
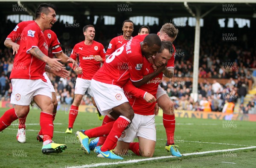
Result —
M 143 57 L 141 55 L 134 54 L 128 58 L 128 64 L 131 81 L 136 82 L 142 80 Z

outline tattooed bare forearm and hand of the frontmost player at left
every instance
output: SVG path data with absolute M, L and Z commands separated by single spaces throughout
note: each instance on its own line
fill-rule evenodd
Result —
M 50 67 L 53 68 L 53 70 L 60 71 L 63 69 L 62 64 L 58 61 L 61 61 L 61 59 L 57 58 L 49 58 L 48 56 L 44 55 L 43 52 L 41 52 L 40 49 L 37 47 L 33 47 L 29 50 L 29 53 L 34 55 L 36 58 L 40 59 L 41 61 L 46 62 Z

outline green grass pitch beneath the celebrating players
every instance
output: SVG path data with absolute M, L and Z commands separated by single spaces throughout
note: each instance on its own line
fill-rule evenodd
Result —
M 0 116 L 6 111 L 0 109 Z M 64 143 L 67 150 L 61 154 L 44 155 L 41 152 L 42 142 L 36 141 L 39 125 L 40 110 L 30 110 L 27 116 L 26 143 L 17 142 L 17 120 L 6 130 L 0 132 L 0 167 L 3 168 L 68 168 L 68 167 L 99 167 L 109 168 L 253 168 L 256 160 L 256 147 L 236 151 L 211 152 L 199 154 L 203 151 L 226 150 L 256 146 L 256 122 L 222 121 L 211 119 L 176 118 L 175 143 L 179 146 L 181 154 L 188 156 L 169 157 L 160 159 L 161 156 L 170 156 L 164 146 L 166 133 L 162 117 L 156 116 L 157 144 L 153 158 L 145 160 L 136 156 L 131 151 L 124 156 L 124 160 L 98 158 L 91 151 L 84 154 L 76 139 L 77 130 L 86 130 L 102 124 L 96 113 L 79 113 L 74 124 L 73 133 L 64 133 L 67 129 L 68 114 L 58 111 L 54 121 L 53 141 Z M 138 161 L 132 161 L 138 159 Z M 131 160 L 131 163 L 127 161 Z M 110 165 L 110 162 L 119 162 Z M 122 163 L 125 162 L 125 163 Z M 101 165 L 101 166 L 100 166 Z

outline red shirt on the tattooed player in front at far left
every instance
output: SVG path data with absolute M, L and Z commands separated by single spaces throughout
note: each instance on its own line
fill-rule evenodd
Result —
M 46 82 L 43 75 L 46 63 L 29 53 L 34 47 L 38 47 L 41 52 L 48 55 L 47 41 L 37 23 L 26 26 L 20 35 L 20 48 L 13 62 L 10 79 L 42 79 Z

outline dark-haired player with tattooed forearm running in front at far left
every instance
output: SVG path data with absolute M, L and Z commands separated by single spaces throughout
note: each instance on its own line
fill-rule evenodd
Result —
M 46 63 L 56 71 L 62 69 L 62 64 L 58 62 L 61 59 L 47 56 L 48 44 L 42 33 L 46 29 L 51 29 L 55 22 L 55 6 L 44 3 L 39 5 L 36 11 L 35 23 L 31 23 L 23 29 L 20 36 L 20 51 L 15 56 L 10 75 L 12 81 L 11 103 L 15 104 L 15 108 L 7 110 L 0 118 L 0 131 L 2 131 L 16 119 L 27 115 L 29 104 L 33 98 L 42 110 L 40 125 L 44 136 L 43 154 L 60 153 L 67 148 L 64 144 L 52 142 L 52 94 L 43 75 Z M 20 64 L 23 66 L 19 67 Z

